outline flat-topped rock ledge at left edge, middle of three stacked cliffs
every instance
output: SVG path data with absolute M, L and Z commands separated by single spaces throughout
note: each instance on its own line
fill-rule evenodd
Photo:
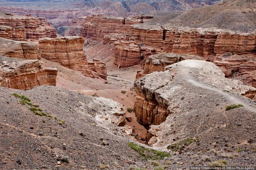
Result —
M 19 59 L 40 59 L 38 43 L 0 38 L 0 55 Z

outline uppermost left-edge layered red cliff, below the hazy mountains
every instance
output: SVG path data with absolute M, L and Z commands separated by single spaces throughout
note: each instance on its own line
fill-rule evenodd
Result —
M 26 40 L 54 38 L 57 34 L 56 29 L 45 18 L 0 12 L 0 36 L 6 39 Z

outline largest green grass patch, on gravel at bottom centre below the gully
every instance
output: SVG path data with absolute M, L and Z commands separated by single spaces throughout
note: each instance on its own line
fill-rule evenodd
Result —
M 134 143 L 128 143 L 128 146 L 130 146 L 131 149 L 135 150 L 140 154 L 140 158 L 143 160 L 161 160 L 164 157 L 170 157 L 170 153 L 162 152 L 160 150 L 153 150 L 150 148 L 146 148 L 144 146 L 134 144 Z

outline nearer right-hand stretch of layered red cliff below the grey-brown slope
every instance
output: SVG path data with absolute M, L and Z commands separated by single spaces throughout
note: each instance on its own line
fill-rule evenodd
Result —
M 237 78 L 255 86 L 255 69 L 252 69 L 252 66 L 256 57 L 256 33 L 239 34 L 220 29 L 178 29 L 159 26 L 144 28 L 143 25 L 132 27 L 129 40 L 115 42 L 115 65 L 135 65 L 141 61 L 145 62 L 147 54 L 160 52 L 194 54 L 216 63 L 225 72 L 226 77 Z M 145 48 L 149 50 L 145 52 Z M 235 53 L 236 57 L 226 59 L 224 56 L 227 52 Z M 240 69 L 242 65 L 243 68 L 249 67 L 250 71 Z

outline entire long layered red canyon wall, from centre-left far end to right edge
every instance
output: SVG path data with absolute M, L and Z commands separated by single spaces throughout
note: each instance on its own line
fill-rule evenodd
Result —
M 145 18 L 149 19 L 146 16 Z M 220 66 L 226 77 L 238 78 L 247 85 L 255 86 L 255 72 L 249 69 L 254 63 L 255 32 L 236 33 L 216 28 L 170 28 L 147 25 L 147 20 L 133 20 L 133 25 L 130 25 L 127 24 L 127 19 L 93 15 L 85 19 L 80 34 L 103 41 L 103 44 L 114 43 L 114 64 L 119 68 L 141 63 L 144 65 L 148 56 L 161 52 L 194 54 Z M 233 52 L 236 57 L 222 58 L 229 55 L 229 52 Z M 244 69 L 240 69 L 242 65 Z

